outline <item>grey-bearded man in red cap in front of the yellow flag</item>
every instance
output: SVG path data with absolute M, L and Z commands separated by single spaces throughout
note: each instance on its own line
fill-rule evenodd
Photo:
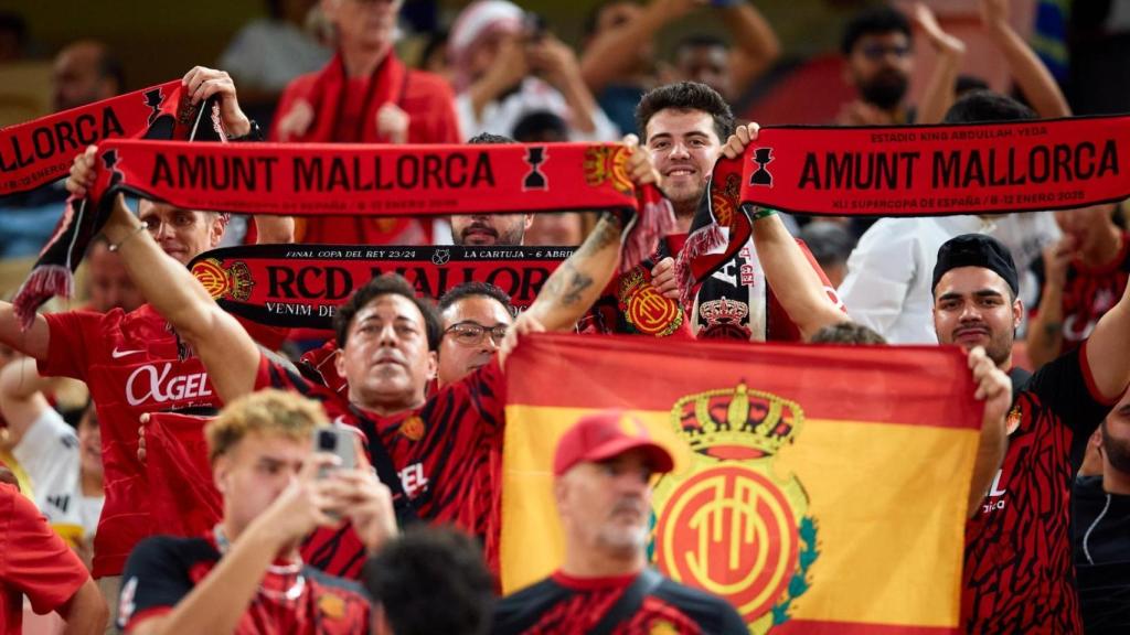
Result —
M 644 425 L 621 410 L 570 428 L 554 455 L 565 559 L 546 580 L 502 600 L 492 633 L 748 634 L 721 598 L 647 567 L 652 476 L 673 466 Z

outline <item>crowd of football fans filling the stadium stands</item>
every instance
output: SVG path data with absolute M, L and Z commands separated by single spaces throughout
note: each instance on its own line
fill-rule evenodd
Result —
M 192 103 L 218 104 L 233 142 L 621 142 L 632 184 L 657 185 L 675 212 L 672 235 L 640 268 L 668 302 L 685 292 L 680 250 L 715 162 L 741 156 L 758 123 L 794 123 L 734 116 L 782 56 L 749 0 L 602 0 L 576 49 L 519 3 L 475 0 L 450 28 L 424 33 L 416 59 L 395 47 L 411 2 L 267 5 L 268 17 L 245 25 L 218 61 L 183 76 Z M 1011 94 L 958 72 L 968 47 L 925 6 L 907 15 L 870 3 L 842 37 L 855 96 L 825 123 L 1071 116 L 1057 78 L 1014 29 L 1010 0 L 977 5 L 982 43 L 1007 67 Z M 728 40 L 684 26 L 702 15 Z M 667 59 L 664 29 L 679 35 Z M 916 38 L 932 55 L 911 103 L 923 68 Z M 26 40 L 17 15 L 0 15 L 0 64 L 19 59 Z M 96 40 L 59 51 L 51 81 L 54 112 L 128 86 Z M 0 197 L 3 299 L 68 197 L 93 189 L 95 157 L 87 148 L 67 179 Z M 81 305 L 24 328 L 0 302 L 0 635 L 751 632 L 723 599 L 650 566 L 652 477 L 675 460 L 620 410 L 581 417 L 557 442 L 563 562 L 501 593 L 507 360 L 530 333 L 640 332 L 615 303 L 600 304 L 620 276 L 621 216 L 307 219 L 124 197 L 107 209 L 78 278 Z M 715 272 L 663 334 L 734 346 L 957 345 L 984 402 L 960 628 L 1130 633 L 1123 202 L 754 218 L 734 269 L 756 275 Z M 550 245 L 567 259 L 523 303 L 484 281 L 421 297 L 395 273 L 377 276 L 342 298 L 332 331 L 228 313 L 186 268 L 219 246 L 270 243 Z M 157 430 L 184 421 L 202 428 L 182 449 L 205 473 L 199 508 L 155 495 L 168 476 L 158 452 L 173 438 Z M 168 508 L 201 531 L 163 534 Z

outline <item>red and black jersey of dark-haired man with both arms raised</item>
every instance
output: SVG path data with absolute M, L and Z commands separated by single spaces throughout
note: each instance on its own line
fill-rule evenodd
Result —
M 479 538 L 487 563 L 497 571 L 498 458 L 506 403 L 497 357 L 436 391 L 421 408 L 392 416 L 363 411 L 349 403 L 345 392 L 310 383 L 266 357 L 255 379 L 255 389 L 262 388 L 294 390 L 321 401 L 331 420 L 365 435 L 371 458 L 383 446 L 416 515 Z M 319 530 L 303 546 L 307 563 L 342 577 L 357 577 L 365 556 L 364 545 L 348 525 Z

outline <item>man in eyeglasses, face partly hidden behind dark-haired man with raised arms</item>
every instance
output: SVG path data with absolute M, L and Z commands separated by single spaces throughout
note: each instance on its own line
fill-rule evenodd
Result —
M 488 282 L 463 282 L 440 298 L 440 388 L 490 363 L 514 322 L 510 296 Z

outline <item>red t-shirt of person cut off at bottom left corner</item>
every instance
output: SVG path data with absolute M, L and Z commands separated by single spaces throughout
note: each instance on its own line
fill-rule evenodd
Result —
M 0 635 L 23 632 L 24 595 L 37 614 L 67 603 L 90 579 L 31 501 L 0 484 Z

